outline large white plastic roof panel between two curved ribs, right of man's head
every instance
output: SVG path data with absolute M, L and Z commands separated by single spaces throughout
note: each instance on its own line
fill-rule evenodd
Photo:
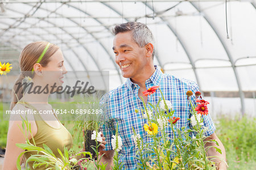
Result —
M 228 59 L 225 50 L 209 24 L 201 16 L 177 16 L 170 20 L 193 60 Z

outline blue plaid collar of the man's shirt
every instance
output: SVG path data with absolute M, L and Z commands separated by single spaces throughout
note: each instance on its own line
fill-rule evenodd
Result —
M 155 65 L 154 67 L 155 67 L 155 72 L 150 76 L 149 79 L 146 80 L 145 82 L 146 86 L 147 84 L 151 84 L 151 83 L 153 83 L 154 86 L 159 86 L 160 84 L 160 80 L 162 78 L 163 73 L 158 66 Z M 133 83 L 130 78 L 126 80 L 126 85 L 130 91 L 134 91 L 135 88 L 139 88 L 139 85 L 136 83 Z

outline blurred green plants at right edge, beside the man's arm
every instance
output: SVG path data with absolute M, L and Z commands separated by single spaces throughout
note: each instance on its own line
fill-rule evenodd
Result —
M 256 118 L 221 117 L 216 122 L 216 134 L 225 147 L 229 169 L 254 169 Z

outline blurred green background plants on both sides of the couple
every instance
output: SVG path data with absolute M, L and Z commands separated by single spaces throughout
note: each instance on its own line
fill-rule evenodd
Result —
M 55 100 L 51 103 L 53 103 L 53 108 L 57 109 L 63 107 L 63 103 L 60 103 L 60 101 Z M 77 103 L 65 103 L 65 108 L 73 109 L 75 108 L 75 105 L 77 105 Z M 2 120 L 2 117 L 3 104 L 0 103 L 0 148 L 6 147 L 6 138 L 9 126 L 9 121 Z M 235 118 L 233 119 L 221 117 L 214 121 L 217 128 L 216 134 L 225 146 L 229 169 L 254 169 L 254 167 L 256 167 L 256 119 L 247 116 L 243 118 L 234 117 Z M 67 121 L 61 122 L 73 136 L 73 146 L 71 150 L 69 150 L 69 153 L 79 152 L 82 147 L 82 142 L 84 141 L 82 131 L 77 129 L 79 128 L 79 126 L 77 126 L 77 122 L 79 121 L 74 121 L 68 118 Z M 168 154 L 171 154 L 171 151 L 168 151 Z M 189 158 L 185 156 L 189 155 L 184 154 L 184 158 Z M 146 162 L 148 162 L 148 158 L 144 159 L 141 167 L 146 165 Z

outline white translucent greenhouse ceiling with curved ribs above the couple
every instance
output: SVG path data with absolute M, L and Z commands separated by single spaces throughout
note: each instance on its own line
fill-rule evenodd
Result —
M 63 50 L 68 70 L 110 72 L 114 25 L 146 23 L 155 36 L 155 64 L 189 78 L 202 91 L 256 91 L 255 1 L 11 1 L 0 0 L 0 59 L 18 67 L 32 41 Z M 228 38 L 229 37 L 229 38 Z

